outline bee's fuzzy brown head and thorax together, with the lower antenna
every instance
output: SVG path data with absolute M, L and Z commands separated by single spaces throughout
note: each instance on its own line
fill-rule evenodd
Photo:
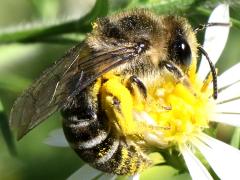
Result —
M 136 48 L 133 56 L 127 56 L 131 57 L 129 61 L 115 69 L 122 74 L 143 77 L 152 72 L 161 73 L 163 67 L 170 65 L 178 69 L 175 74 L 185 76 L 192 62 L 196 62 L 198 50 L 203 53 L 185 18 L 158 16 L 143 9 L 98 19 L 90 35 L 87 42 L 96 50 L 112 52 L 122 47 Z M 122 54 L 121 51 L 119 56 Z M 208 61 L 216 94 L 216 72 L 209 58 Z

